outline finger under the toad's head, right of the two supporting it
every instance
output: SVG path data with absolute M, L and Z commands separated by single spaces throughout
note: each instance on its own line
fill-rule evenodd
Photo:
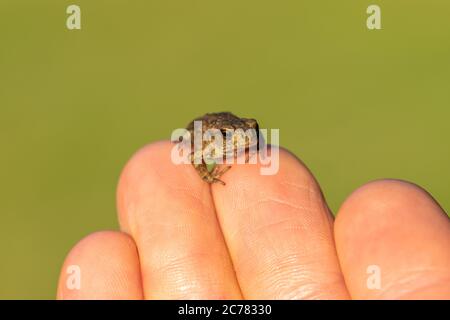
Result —
M 280 150 L 279 172 L 235 165 L 213 197 L 245 298 L 344 299 L 333 219 L 316 180 Z

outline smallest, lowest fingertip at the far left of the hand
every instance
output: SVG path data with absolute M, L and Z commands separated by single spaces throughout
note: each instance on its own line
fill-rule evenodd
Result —
M 101 231 L 80 240 L 61 269 L 57 299 L 142 299 L 139 258 L 127 234 Z

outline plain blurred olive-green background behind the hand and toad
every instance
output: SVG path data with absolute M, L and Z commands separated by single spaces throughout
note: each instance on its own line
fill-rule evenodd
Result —
M 279 128 L 333 211 L 392 177 L 448 212 L 449 107 L 448 0 L 1 0 L 0 298 L 54 298 L 127 159 L 205 112 Z

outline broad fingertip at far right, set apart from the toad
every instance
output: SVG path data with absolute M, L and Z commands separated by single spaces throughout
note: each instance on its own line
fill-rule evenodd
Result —
M 401 180 L 365 184 L 345 200 L 334 230 L 352 297 L 448 297 L 450 223 L 421 187 Z M 367 285 L 370 266 L 380 270 L 376 290 Z

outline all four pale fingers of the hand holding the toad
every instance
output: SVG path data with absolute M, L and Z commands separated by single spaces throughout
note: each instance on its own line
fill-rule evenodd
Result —
M 170 161 L 170 142 L 142 148 L 117 190 L 120 231 L 68 254 L 59 299 L 450 299 L 450 221 L 420 187 L 379 180 L 333 218 L 295 156 L 280 170 L 234 165 L 226 186 Z M 79 266 L 80 289 L 67 268 Z M 369 288 L 370 266 L 381 287 Z

